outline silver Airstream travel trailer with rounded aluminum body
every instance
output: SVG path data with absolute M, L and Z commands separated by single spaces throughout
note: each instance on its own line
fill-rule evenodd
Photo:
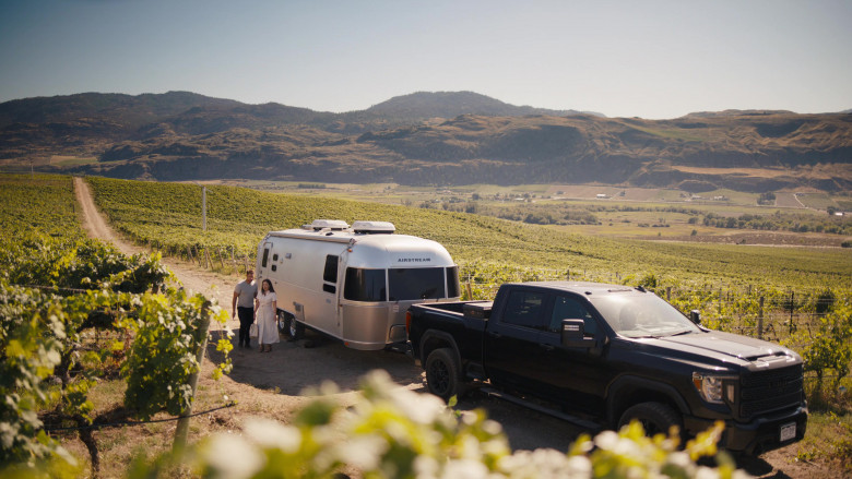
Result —
M 411 304 L 459 298 L 447 250 L 394 231 L 387 221 L 317 219 L 267 233 L 255 274 L 272 282 L 292 337 L 307 326 L 353 349 L 383 349 L 405 342 Z

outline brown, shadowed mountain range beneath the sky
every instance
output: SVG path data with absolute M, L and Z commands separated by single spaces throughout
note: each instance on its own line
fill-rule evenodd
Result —
M 0 104 L 0 166 L 31 161 L 61 172 L 157 180 L 849 191 L 852 115 L 605 118 L 472 92 L 419 92 L 346 113 L 186 92 Z

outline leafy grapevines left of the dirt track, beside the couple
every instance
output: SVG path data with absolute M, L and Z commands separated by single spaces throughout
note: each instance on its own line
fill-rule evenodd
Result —
M 81 472 L 48 431 L 72 431 L 97 475 L 103 423 L 167 414 L 188 428 L 211 321 L 202 296 L 171 284 L 159 256 L 125 256 L 85 239 L 71 178 L 2 176 L 0 196 L 0 472 L 66 477 Z M 220 340 L 221 375 L 230 343 Z M 95 414 L 102 381 L 123 388 L 121 404 Z M 186 432 L 175 443 L 186 442 Z

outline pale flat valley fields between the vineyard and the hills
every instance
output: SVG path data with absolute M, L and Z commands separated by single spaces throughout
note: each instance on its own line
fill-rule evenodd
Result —
M 796 241 L 791 242 L 790 238 L 784 235 L 756 237 L 754 235 L 758 231 L 707 227 L 701 224 L 702 217 L 709 214 L 721 218 L 741 218 L 743 215 L 757 217 L 771 215 L 771 217 L 776 217 L 782 214 L 795 215 L 795 219 L 790 219 L 790 221 L 807 224 L 826 221 L 824 211 L 806 208 L 796 201 L 793 193 L 786 192 L 776 194 L 777 204 L 757 205 L 757 193 L 733 190 L 714 190 L 693 195 L 679 190 L 590 184 L 469 184 L 436 188 L 405 187 L 397 183 L 353 184 L 246 180 L 210 183 L 238 185 L 297 196 L 477 212 L 492 216 L 508 215 L 516 220 L 522 219 L 528 213 L 551 215 L 559 219 L 567 212 L 568 214 L 581 212 L 579 213 L 581 216 L 593 215 L 596 221 L 584 220 L 582 224 L 565 221 L 571 223 L 571 225 L 564 225 L 560 228 L 566 231 L 613 238 L 748 244 L 754 244 L 755 241 L 760 244 L 771 244 L 772 240 L 778 240 L 779 244 L 833 247 L 839 247 L 848 238 L 838 235 L 820 235 L 816 225 L 812 225 L 807 232 L 796 232 L 798 235 Z M 599 194 L 606 196 L 597 197 Z M 849 196 L 833 197 L 842 202 Z M 837 204 L 841 204 L 840 202 Z M 526 213 L 519 214 L 518 212 L 521 211 Z M 693 223 L 689 223 L 690 220 Z M 838 221 L 841 220 L 843 219 L 838 219 Z M 790 221 L 788 224 L 791 224 Z

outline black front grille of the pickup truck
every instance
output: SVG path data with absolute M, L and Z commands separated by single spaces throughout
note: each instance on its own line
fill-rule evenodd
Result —
M 744 373 L 739 380 L 739 417 L 797 407 L 802 403 L 802 364 Z

